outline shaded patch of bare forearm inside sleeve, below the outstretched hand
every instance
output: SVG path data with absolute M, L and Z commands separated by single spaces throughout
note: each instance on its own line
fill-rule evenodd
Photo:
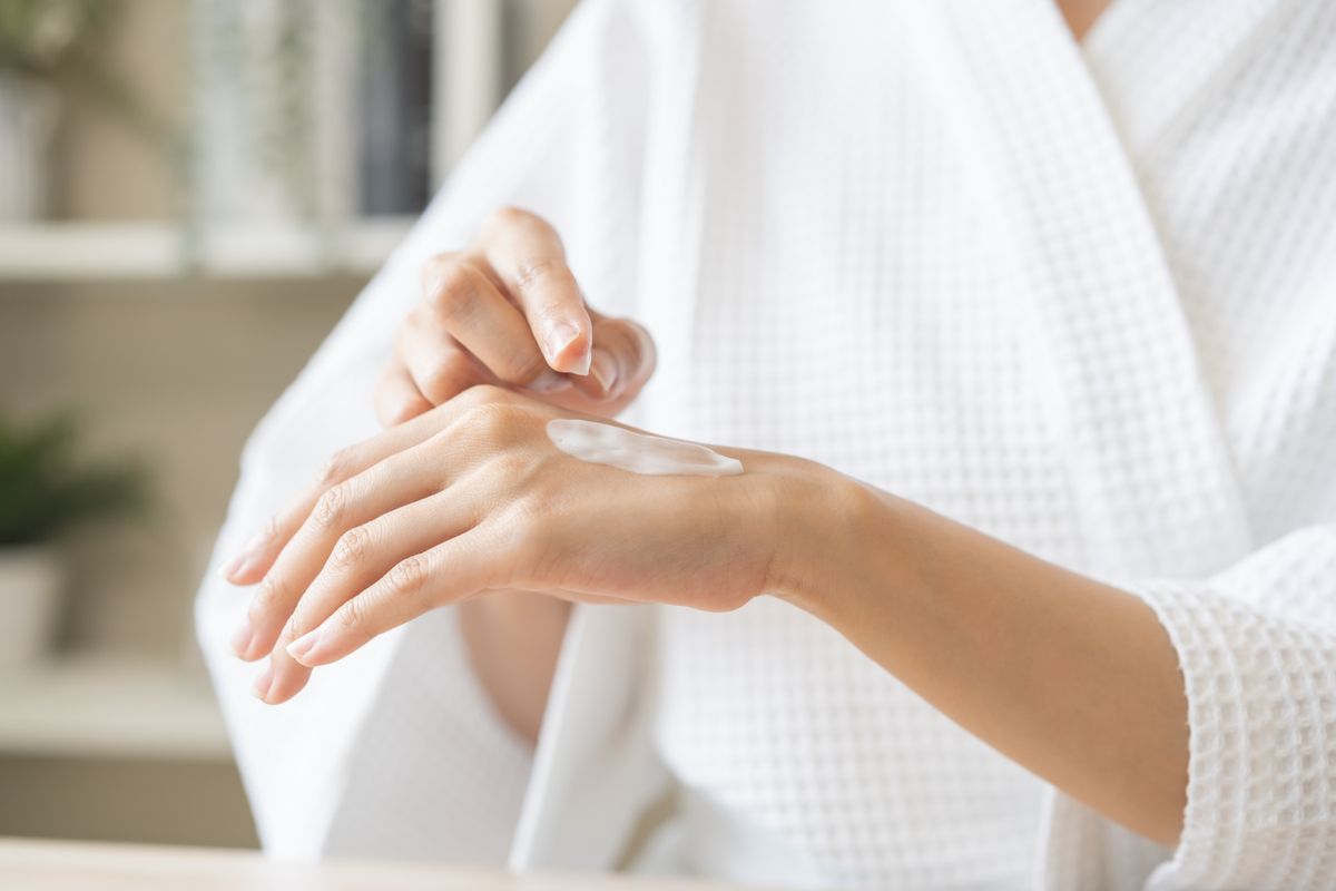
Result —
M 482 689 L 517 733 L 537 743 L 570 604 L 522 590 L 493 590 L 456 608 Z

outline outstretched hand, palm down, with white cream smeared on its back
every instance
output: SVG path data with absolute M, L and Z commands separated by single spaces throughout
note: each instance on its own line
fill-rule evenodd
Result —
M 266 570 L 232 641 L 270 656 L 255 693 L 286 701 L 311 667 L 489 589 L 729 610 L 807 574 L 796 530 L 822 525 L 796 514 L 839 474 L 727 449 L 741 474 L 640 476 L 560 452 L 557 417 L 478 386 L 335 456 L 242 556 Z

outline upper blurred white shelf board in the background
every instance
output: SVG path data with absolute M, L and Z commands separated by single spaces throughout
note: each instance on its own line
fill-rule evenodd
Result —
M 170 222 L 0 226 L 0 282 L 367 275 L 411 224 L 402 216 L 337 230 L 232 224 L 211 226 L 196 238 Z

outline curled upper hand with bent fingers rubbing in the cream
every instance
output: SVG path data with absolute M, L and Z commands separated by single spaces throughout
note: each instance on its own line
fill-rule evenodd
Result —
M 615 417 L 653 374 L 649 333 L 589 307 L 557 232 L 528 211 L 494 212 L 472 247 L 434 256 L 422 285 L 377 386 L 385 426 L 477 383 Z

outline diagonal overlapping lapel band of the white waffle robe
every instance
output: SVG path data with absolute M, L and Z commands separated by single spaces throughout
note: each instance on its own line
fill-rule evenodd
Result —
M 1116 0 L 1118 1 L 1118 0 Z M 1051 0 L 945 7 L 1015 258 L 1085 569 L 1206 573 L 1248 545 L 1238 484 L 1126 151 Z

